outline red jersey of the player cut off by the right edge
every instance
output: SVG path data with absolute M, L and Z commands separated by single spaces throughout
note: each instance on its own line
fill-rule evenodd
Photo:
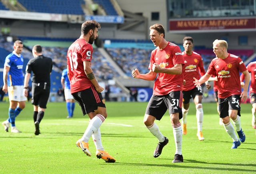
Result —
M 256 61 L 249 63 L 246 68 L 251 73 L 249 92 L 256 93 Z M 241 82 L 244 81 L 244 74 L 241 74 L 240 80 Z

